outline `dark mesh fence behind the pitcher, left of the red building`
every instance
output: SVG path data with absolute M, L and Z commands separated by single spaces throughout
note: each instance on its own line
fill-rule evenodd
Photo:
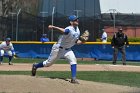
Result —
M 8 17 L 0 17 L 0 40 L 5 37 L 11 37 L 13 41 L 39 41 L 43 33 L 47 34 L 51 40 L 51 31 L 48 30 L 48 25 L 52 22 L 52 17 L 38 17 L 26 12 L 21 12 L 18 16 L 11 15 Z M 58 13 L 54 14 L 55 25 L 66 27 L 69 25 L 68 16 L 62 16 Z M 95 17 L 80 17 L 79 28 L 81 33 L 84 30 L 90 31 L 90 41 L 95 41 L 94 36 L 97 36 L 99 29 L 99 20 Z M 57 41 L 59 32 L 54 31 L 53 38 Z

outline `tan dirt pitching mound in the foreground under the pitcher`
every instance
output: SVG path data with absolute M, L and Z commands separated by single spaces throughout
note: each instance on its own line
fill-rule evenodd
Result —
M 79 80 L 71 84 L 69 80 L 32 77 L 24 75 L 1 75 L 2 93 L 139 93 L 138 88 Z

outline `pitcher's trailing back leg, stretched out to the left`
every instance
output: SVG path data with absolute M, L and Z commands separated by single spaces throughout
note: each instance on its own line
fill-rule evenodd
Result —
M 36 70 L 38 68 L 51 66 L 55 62 L 55 60 L 58 58 L 58 53 L 59 53 L 59 47 L 57 47 L 57 45 L 55 44 L 52 47 L 51 53 L 50 53 L 47 60 L 39 62 L 37 64 L 33 64 L 33 66 L 32 66 L 32 76 L 36 75 Z

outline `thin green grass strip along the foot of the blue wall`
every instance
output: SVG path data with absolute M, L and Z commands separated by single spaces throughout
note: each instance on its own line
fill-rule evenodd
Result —
M 37 59 L 37 58 L 17 58 L 13 59 L 13 63 L 38 63 L 40 61 L 44 61 L 46 59 Z M 4 62 L 7 63 L 8 59 L 4 58 Z M 64 59 L 60 59 L 55 62 L 55 64 L 68 64 L 68 62 Z M 103 61 L 103 60 L 98 60 L 98 61 L 78 61 L 78 64 L 112 64 L 112 61 Z M 122 64 L 121 61 L 117 61 L 117 64 Z M 137 65 L 140 66 L 140 62 L 130 62 L 127 61 L 127 65 Z

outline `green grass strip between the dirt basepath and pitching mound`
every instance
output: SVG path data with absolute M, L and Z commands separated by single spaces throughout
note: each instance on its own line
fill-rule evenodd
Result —
M 30 75 L 30 71 L 0 71 L 0 75 Z M 70 71 L 38 71 L 37 76 L 46 78 L 70 78 Z M 140 87 L 139 72 L 118 72 L 118 71 L 78 71 L 77 78 L 81 80 L 111 83 Z

